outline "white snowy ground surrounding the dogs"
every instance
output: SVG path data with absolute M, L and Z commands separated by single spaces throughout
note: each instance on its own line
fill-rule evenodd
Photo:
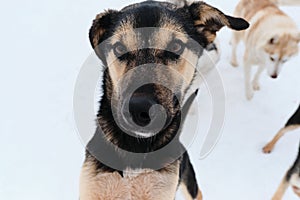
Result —
M 1 6 L 0 199 L 78 199 L 84 147 L 73 121 L 72 97 L 81 64 L 92 49 L 87 33 L 96 13 L 132 1 L 6 1 Z M 236 0 L 209 0 L 232 13 Z M 300 7 L 284 8 L 300 26 Z M 242 68 L 229 65 L 230 31 L 219 34 L 218 68 L 226 92 L 226 119 L 214 151 L 200 159 L 198 137 L 189 148 L 207 200 L 266 200 L 295 159 L 300 130 L 271 155 L 261 152 L 300 99 L 300 57 L 278 80 L 262 76 L 262 90 L 245 100 Z M 239 55 L 242 56 L 241 46 Z M 210 98 L 198 98 L 204 122 Z M 202 122 L 205 126 L 205 123 Z M 181 199 L 181 195 L 178 195 Z M 285 199 L 298 199 L 289 189 Z

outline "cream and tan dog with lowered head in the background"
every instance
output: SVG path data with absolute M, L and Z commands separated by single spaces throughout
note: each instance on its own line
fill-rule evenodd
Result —
M 283 62 L 298 53 L 299 31 L 293 20 L 269 0 L 241 0 L 235 9 L 235 15 L 250 22 L 250 28 L 234 32 L 231 41 L 233 66 L 238 66 L 238 43 L 245 43 L 245 88 L 246 97 L 250 100 L 254 95 L 253 90 L 260 88 L 259 77 L 264 68 L 268 69 L 270 76 L 277 77 Z M 276 42 L 271 43 L 272 38 L 276 38 Z M 276 56 L 277 60 L 271 61 L 272 56 Z M 258 65 L 259 68 L 251 80 L 253 65 Z

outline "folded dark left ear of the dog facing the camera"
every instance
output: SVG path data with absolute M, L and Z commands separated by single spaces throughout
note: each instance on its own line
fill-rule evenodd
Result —
M 119 12 L 116 10 L 107 10 L 96 16 L 89 32 L 93 49 L 105 39 L 103 36 L 115 23 L 118 14 Z

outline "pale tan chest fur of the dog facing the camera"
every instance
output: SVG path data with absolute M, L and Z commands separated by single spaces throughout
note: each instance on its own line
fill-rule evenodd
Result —
M 174 200 L 179 181 L 179 162 L 163 170 L 127 169 L 97 172 L 86 163 L 81 172 L 80 200 Z

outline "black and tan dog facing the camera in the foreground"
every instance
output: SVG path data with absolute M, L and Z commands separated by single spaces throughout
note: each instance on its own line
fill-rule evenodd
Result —
M 188 198 L 202 199 L 177 134 L 189 107 L 181 109 L 180 104 L 193 84 L 203 48 L 223 26 L 244 30 L 249 24 L 203 2 L 177 7 L 146 1 L 97 15 L 90 41 L 104 64 L 103 96 L 82 167 L 80 200 L 173 200 L 179 185 Z M 135 70 L 138 66 L 146 67 Z M 152 83 L 127 97 L 128 88 L 149 78 Z M 165 110 L 159 132 L 147 129 L 160 122 L 151 112 L 155 105 Z M 155 154 L 162 149 L 167 150 Z

